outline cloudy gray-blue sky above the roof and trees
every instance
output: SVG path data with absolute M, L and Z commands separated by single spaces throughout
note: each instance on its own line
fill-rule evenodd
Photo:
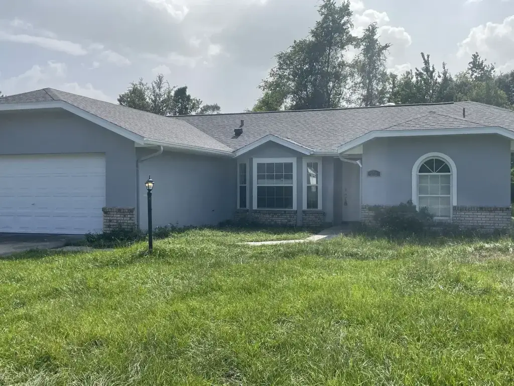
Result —
M 317 0 L 16 0 L 0 2 L 0 90 L 43 87 L 116 101 L 163 73 L 222 112 L 251 108 L 273 55 L 317 20 Z M 419 52 L 461 71 L 478 50 L 514 69 L 514 0 L 353 0 L 355 33 L 378 22 L 389 67 Z

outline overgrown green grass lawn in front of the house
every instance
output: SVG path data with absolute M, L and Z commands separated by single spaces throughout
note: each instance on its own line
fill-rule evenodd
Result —
M 514 383 L 512 240 L 283 237 L 0 260 L 0 385 Z

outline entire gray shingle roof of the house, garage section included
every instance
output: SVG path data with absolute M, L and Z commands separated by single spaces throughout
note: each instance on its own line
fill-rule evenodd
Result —
M 52 100 L 66 102 L 151 141 L 221 152 L 240 149 L 268 134 L 318 152 L 336 152 L 339 146 L 375 130 L 502 127 L 514 131 L 512 111 L 477 102 L 163 117 L 43 89 L 0 98 L 0 104 Z M 235 136 L 234 129 L 241 120 L 243 134 Z

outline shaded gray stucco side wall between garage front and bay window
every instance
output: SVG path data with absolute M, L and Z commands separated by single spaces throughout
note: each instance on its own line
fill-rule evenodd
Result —
M 138 159 L 155 150 L 137 149 Z M 139 226 L 148 229 L 144 182 L 152 176 L 153 225 L 216 225 L 236 208 L 236 161 L 164 151 L 139 163 Z

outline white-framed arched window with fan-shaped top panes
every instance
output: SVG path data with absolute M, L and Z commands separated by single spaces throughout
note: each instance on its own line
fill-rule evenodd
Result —
M 412 170 L 412 201 L 436 218 L 451 218 L 456 205 L 456 167 L 445 154 L 420 157 Z

